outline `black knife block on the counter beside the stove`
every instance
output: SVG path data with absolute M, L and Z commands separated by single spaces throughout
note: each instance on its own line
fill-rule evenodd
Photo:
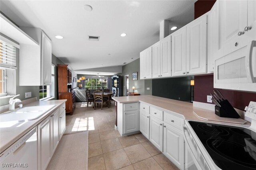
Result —
M 240 115 L 236 112 L 234 107 L 228 102 L 228 100 L 224 100 L 220 102 L 220 106 L 215 106 L 215 114 L 220 117 L 229 117 L 229 118 L 240 118 Z

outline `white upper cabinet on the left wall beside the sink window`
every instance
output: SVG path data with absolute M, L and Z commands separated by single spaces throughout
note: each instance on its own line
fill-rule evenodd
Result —
M 20 44 L 20 86 L 42 86 L 52 83 L 52 43 L 40 29 L 21 27 L 39 46 Z

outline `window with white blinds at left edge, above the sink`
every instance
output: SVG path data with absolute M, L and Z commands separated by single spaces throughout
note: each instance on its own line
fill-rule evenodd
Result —
M 2 40 L 5 39 L 8 41 Z M 16 94 L 16 47 L 10 40 L 0 40 L 0 96 Z

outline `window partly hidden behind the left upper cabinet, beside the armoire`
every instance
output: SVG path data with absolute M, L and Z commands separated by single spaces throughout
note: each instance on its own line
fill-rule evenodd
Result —
M 46 100 L 55 96 L 55 65 L 52 64 L 52 85 L 39 87 L 39 100 Z

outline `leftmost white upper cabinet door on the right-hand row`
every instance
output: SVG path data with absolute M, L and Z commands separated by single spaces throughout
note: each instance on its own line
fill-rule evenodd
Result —
M 140 52 L 140 79 L 152 78 L 152 47 Z

